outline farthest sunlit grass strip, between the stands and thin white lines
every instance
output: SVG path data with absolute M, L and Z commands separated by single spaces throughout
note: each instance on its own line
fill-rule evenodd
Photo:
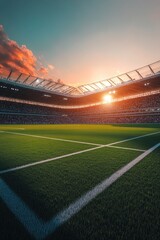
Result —
M 24 131 L 18 128 L 25 128 Z M 129 137 L 160 131 L 160 124 L 143 125 L 1 125 L 0 130 L 21 132 L 71 139 L 77 141 L 107 144 Z M 33 139 L 33 138 L 32 138 Z M 31 139 L 31 141 L 32 141 Z

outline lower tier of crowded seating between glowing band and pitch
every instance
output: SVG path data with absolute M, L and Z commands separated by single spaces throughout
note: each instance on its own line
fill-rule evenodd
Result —
M 79 109 L 0 101 L 0 123 L 158 123 L 160 94 Z

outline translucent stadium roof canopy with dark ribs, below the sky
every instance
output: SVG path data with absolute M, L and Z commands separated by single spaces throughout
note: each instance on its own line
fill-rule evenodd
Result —
M 105 91 L 111 87 L 123 86 L 126 83 L 134 83 L 155 75 L 160 75 L 160 60 L 136 70 L 109 78 L 102 81 L 84 84 L 78 87 L 62 84 L 58 80 L 47 80 L 36 76 L 26 75 L 6 68 L 0 68 L 0 78 L 19 83 L 25 86 L 51 91 L 52 93 L 68 96 L 84 96 L 96 92 Z

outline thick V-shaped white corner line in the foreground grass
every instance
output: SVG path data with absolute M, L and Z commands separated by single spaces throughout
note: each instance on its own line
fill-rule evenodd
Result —
M 2 179 L 0 179 L 0 197 L 35 239 L 45 239 L 159 146 L 160 143 L 146 150 L 47 222 L 36 216 Z

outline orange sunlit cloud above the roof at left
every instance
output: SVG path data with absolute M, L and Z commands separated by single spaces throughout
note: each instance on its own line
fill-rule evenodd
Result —
M 52 78 L 55 69 L 52 64 L 44 66 L 39 63 L 26 45 L 20 46 L 16 41 L 9 39 L 2 25 L 0 25 L 0 67 L 47 79 Z

